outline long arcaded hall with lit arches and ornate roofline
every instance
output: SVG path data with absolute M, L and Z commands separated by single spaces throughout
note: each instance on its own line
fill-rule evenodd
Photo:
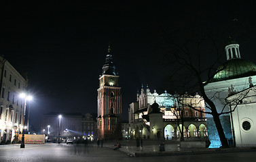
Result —
M 181 137 L 181 112 L 183 109 L 184 137 L 185 138 L 205 138 L 207 136 L 206 118 L 204 113 L 191 109 L 190 107 L 179 107 L 177 100 L 182 99 L 183 104 L 195 107 L 200 111 L 205 111 L 204 99 L 196 94 L 191 96 L 172 95 L 166 91 L 158 94 L 156 90 L 150 92 L 141 88 L 141 93 L 137 93 L 137 101 L 131 103 L 128 109 L 130 138 L 147 138 L 152 140 L 172 140 Z M 178 112 L 179 111 L 179 112 Z

